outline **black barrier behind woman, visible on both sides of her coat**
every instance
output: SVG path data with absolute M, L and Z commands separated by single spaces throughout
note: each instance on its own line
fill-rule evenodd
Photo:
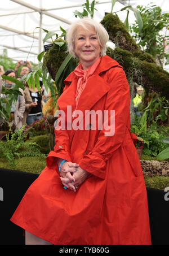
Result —
M 23 229 L 10 222 L 17 205 L 38 175 L 0 168 L 1 245 L 24 245 Z M 153 245 L 169 245 L 169 193 L 147 188 Z

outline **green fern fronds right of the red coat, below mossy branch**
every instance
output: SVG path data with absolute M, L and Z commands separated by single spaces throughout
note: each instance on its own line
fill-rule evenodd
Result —
M 141 118 L 136 118 L 135 123 L 131 125 L 131 132 L 135 133 L 137 137 L 141 137 L 143 139 L 144 155 L 157 157 L 157 155 L 166 148 L 162 139 L 166 137 L 166 134 L 169 136 L 169 128 L 160 127 L 155 121 L 148 126 L 147 111 L 144 112 Z

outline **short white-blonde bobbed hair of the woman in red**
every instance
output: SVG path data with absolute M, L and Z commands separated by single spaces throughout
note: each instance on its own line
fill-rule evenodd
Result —
M 86 25 L 90 25 L 95 28 L 99 43 L 102 47 L 101 54 L 104 56 L 106 54 L 106 42 L 108 42 L 109 40 L 108 32 L 106 32 L 106 29 L 103 27 L 101 23 L 91 18 L 79 19 L 78 21 L 72 23 L 68 28 L 68 31 L 66 33 L 66 42 L 68 44 L 69 54 L 73 55 L 74 57 L 77 57 L 74 52 L 74 39 L 76 31 L 79 26 L 82 26 L 84 29 L 88 31 Z

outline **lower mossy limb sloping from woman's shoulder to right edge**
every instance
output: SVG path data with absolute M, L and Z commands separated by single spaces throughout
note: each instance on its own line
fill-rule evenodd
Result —
M 144 59 L 143 55 L 138 58 L 127 50 L 108 48 L 107 55 L 123 66 L 128 81 L 132 77 L 135 83 L 143 85 L 145 89 L 153 89 L 169 99 L 169 73 L 157 64 L 147 62 L 146 54 Z

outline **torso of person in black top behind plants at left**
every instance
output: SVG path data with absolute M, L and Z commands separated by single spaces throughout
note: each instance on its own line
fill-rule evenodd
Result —
M 42 118 L 42 92 L 38 92 L 37 87 L 29 87 L 25 84 L 25 112 L 23 124 L 33 124 L 33 122 Z

